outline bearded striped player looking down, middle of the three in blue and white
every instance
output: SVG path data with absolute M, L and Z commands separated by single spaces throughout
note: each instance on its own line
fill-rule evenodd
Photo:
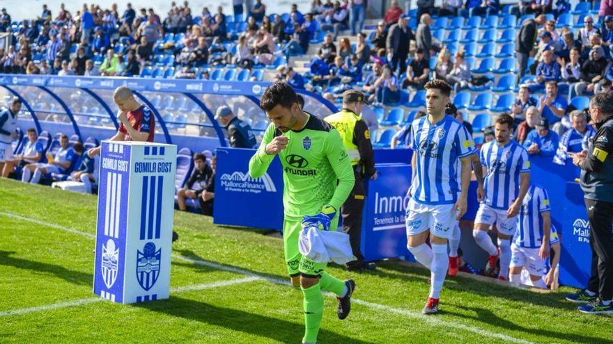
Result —
M 517 229 L 516 216 L 530 183 L 530 161 L 527 151 L 511 138 L 513 117 L 503 113 L 494 126 L 496 140 L 481 147 L 479 157 L 486 169 L 486 198 L 479 204 L 474 220 L 472 235 L 477 245 L 490 256 L 486 265 L 486 275 L 491 275 L 500 257 L 498 278 L 508 279 L 511 263 L 510 240 Z M 498 249 L 488 236 L 488 230 L 496 223 L 498 230 Z

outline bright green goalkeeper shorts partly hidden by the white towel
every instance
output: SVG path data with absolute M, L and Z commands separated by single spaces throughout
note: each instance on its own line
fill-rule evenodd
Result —
M 330 228 L 336 229 L 339 225 L 339 217 L 336 216 Z M 288 274 L 291 277 L 298 275 L 306 275 L 307 277 L 319 277 L 321 272 L 325 270 L 327 263 L 315 263 L 311 259 L 302 256 L 298 250 L 298 237 L 302 231 L 302 220 L 283 221 L 283 242 L 285 251 L 285 261 L 288 268 Z

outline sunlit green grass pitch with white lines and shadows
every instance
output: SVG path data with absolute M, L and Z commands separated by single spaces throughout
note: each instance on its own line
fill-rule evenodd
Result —
M 92 293 L 96 197 L 0 179 L 0 343 L 300 343 L 302 293 L 280 238 L 176 212 L 169 300 L 121 305 Z M 382 262 L 357 283 L 346 320 L 325 297 L 318 343 L 613 343 L 613 317 L 465 277 L 421 316 L 428 272 Z

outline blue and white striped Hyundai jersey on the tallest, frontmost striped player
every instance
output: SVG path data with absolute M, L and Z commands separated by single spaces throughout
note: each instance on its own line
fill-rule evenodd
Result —
M 411 124 L 411 148 L 417 154 L 411 197 L 423 204 L 455 203 L 460 191 L 456 161 L 476 151 L 470 133 L 448 115 L 437 124 L 421 117 Z

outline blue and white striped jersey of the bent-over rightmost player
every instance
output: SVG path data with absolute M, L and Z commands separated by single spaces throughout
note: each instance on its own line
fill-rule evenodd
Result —
M 536 184 L 530 184 L 518 215 L 518 231 L 513 238 L 515 245 L 526 248 L 541 247 L 543 238 L 542 213 L 550 210 L 547 190 Z

